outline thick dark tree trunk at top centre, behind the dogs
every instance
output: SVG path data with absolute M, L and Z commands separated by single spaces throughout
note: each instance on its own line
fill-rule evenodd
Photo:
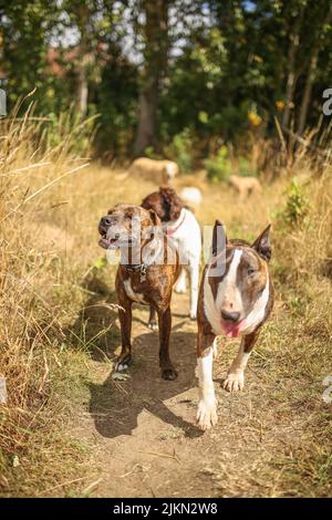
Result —
M 160 80 L 167 64 L 168 0 L 143 1 L 145 13 L 144 72 L 138 102 L 138 124 L 134 155 L 155 144 Z

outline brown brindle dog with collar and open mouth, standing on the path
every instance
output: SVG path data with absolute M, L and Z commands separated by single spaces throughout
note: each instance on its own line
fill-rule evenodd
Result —
M 115 288 L 122 308 L 118 310 L 122 352 L 115 371 L 127 370 L 132 362 L 132 304 L 137 302 L 151 306 L 149 322 L 157 313 L 162 377 L 175 379 L 169 334 L 172 290 L 179 274 L 177 251 L 168 243 L 155 211 L 139 206 L 116 205 L 102 217 L 98 231 L 101 247 L 121 250 Z

